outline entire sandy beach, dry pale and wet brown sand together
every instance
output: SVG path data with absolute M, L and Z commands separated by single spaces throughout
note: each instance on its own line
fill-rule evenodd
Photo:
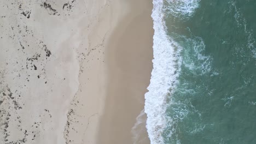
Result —
M 0 143 L 149 143 L 151 3 L 1 1 Z

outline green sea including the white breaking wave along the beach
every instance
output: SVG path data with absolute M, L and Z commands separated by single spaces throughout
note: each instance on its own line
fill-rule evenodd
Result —
M 151 143 L 256 143 L 256 1 L 153 4 Z

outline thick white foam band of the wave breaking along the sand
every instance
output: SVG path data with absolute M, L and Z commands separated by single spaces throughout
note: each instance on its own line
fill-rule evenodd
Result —
M 162 131 L 166 125 L 166 97 L 177 84 L 180 47 L 168 39 L 162 13 L 163 1 L 154 0 L 152 18 L 154 20 L 153 70 L 149 92 L 145 94 L 145 112 L 147 113 L 147 131 L 152 144 L 164 143 Z

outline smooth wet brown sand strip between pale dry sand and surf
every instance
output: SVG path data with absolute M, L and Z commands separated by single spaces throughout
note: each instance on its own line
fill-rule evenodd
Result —
M 143 109 L 153 69 L 153 4 L 129 1 L 123 5 L 129 10 L 113 29 L 106 48 L 107 95 L 99 144 L 150 143 Z

